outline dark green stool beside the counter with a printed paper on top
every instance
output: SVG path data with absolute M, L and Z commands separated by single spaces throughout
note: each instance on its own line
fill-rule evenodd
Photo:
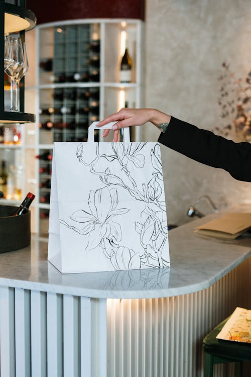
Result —
M 242 361 L 251 361 L 251 344 L 241 342 L 231 342 L 229 340 L 216 339 L 228 318 L 217 325 L 203 339 L 203 349 L 205 356 L 204 377 L 213 377 L 213 365 L 236 362 L 235 377 L 242 375 Z

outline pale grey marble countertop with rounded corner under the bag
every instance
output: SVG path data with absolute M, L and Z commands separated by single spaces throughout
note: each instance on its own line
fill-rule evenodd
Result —
M 234 211 L 251 212 L 251 206 L 239 206 Z M 220 215 L 212 214 L 169 231 L 171 268 L 62 274 L 47 261 L 48 240 L 33 235 L 29 247 L 0 254 L 0 286 L 117 299 L 201 291 L 251 255 L 251 234 L 226 241 L 193 232 L 195 226 Z

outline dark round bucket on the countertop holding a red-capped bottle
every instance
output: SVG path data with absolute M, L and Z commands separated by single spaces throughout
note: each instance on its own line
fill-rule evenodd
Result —
M 0 205 L 0 253 L 23 249 L 31 243 L 31 212 L 11 216 L 16 209 Z

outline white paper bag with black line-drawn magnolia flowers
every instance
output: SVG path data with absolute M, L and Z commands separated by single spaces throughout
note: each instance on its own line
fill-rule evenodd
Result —
M 62 273 L 169 267 L 159 143 L 56 142 L 48 260 Z M 102 128 L 111 128 L 112 123 Z

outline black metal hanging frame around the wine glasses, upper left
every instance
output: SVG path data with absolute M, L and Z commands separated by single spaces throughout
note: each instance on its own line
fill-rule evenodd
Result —
M 25 79 L 21 80 L 20 85 L 20 112 L 5 111 L 5 91 L 4 91 L 4 34 L 5 34 L 5 13 L 20 16 L 30 22 L 31 30 L 36 26 L 36 17 L 33 12 L 26 9 L 26 0 L 19 0 L 20 6 L 8 4 L 5 0 L 0 0 L 0 123 L 34 123 L 35 115 L 24 113 L 25 108 Z M 18 32 L 18 31 L 17 31 Z M 20 31 L 20 38 L 25 41 L 25 30 Z

